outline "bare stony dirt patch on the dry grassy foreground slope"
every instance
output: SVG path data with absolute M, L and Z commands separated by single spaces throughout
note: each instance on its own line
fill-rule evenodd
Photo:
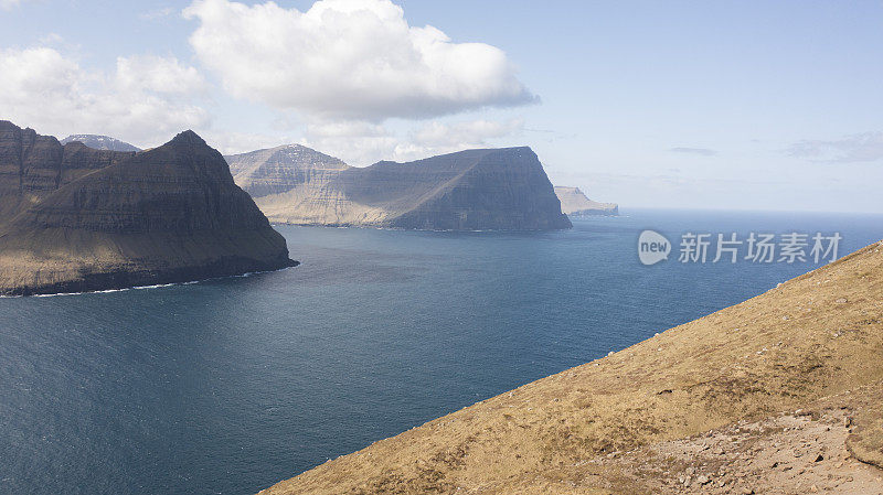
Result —
M 649 493 L 883 495 L 883 471 L 845 448 L 845 409 L 797 410 L 593 460 Z

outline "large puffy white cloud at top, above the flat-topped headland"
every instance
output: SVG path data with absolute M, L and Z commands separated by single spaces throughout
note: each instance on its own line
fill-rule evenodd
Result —
M 390 0 L 320 0 L 309 10 L 196 0 L 198 57 L 236 97 L 323 120 L 427 118 L 535 101 L 506 54 L 409 26 Z

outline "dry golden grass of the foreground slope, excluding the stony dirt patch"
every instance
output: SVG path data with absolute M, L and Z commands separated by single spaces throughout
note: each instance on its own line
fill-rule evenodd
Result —
M 881 356 L 883 243 L 262 493 L 653 493 L 616 458 L 836 397 L 848 446 L 880 463 Z

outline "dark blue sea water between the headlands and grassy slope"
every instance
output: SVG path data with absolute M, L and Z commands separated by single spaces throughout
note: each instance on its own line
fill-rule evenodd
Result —
M 0 299 L 0 493 L 253 493 L 813 267 L 645 267 L 643 228 L 839 232 L 841 255 L 883 238 L 881 216 L 625 213 L 545 234 L 278 227 L 300 267 Z

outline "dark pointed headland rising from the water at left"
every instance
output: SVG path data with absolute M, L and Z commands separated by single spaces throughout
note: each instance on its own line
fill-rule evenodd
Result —
M 58 155 L 68 147 L 72 155 L 114 153 L 86 152 L 81 143 L 62 148 L 54 138 L 32 139 L 29 131 L 20 133 L 26 136 L 26 162 L 43 165 L 36 170 L 65 163 Z M 15 148 L 2 142 L 3 149 Z M 62 177 L 56 190 L 35 196 L 0 225 L 0 293 L 120 289 L 296 263 L 285 238 L 234 184 L 221 153 L 194 132 L 149 151 L 108 157 L 116 158 L 91 173 L 56 174 Z M 2 164 L 12 168 L 6 157 Z

